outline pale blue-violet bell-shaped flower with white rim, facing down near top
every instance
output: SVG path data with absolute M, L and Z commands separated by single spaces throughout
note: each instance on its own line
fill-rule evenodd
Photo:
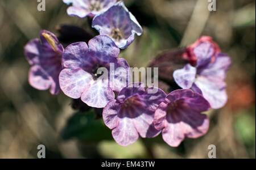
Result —
M 141 25 L 122 1 L 110 7 L 108 11 L 95 16 L 92 27 L 97 29 L 100 35 L 111 37 L 121 49 L 125 49 L 133 42 L 135 33 L 138 36 L 142 35 Z

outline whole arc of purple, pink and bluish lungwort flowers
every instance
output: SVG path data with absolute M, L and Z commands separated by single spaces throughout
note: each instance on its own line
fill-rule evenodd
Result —
M 103 108 L 105 125 L 121 146 L 139 136 L 154 138 L 162 133 L 168 145 L 177 147 L 185 137 L 207 133 L 209 119 L 203 112 L 225 105 L 226 71 L 231 64 L 210 37 L 201 37 L 181 55 L 190 64 L 173 76 L 183 89 L 166 94 L 157 87 L 131 83 L 129 64 L 118 58 L 120 49 L 127 48 L 135 34 L 142 34 L 141 25 L 122 1 L 63 2 L 72 4 L 69 15 L 93 18 L 92 27 L 100 35 L 88 44 L 75 42 L 64 49 L 53 33 L 42 31 L 40 39 L 31 40 L 24 49 L 32 65 L 28 77 L 32 87 L 49 89 L 53 95 L 61 90 L 89 107 Z

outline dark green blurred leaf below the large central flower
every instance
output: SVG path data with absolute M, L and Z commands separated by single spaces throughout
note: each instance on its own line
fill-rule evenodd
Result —
M 75 113 L 69 118 L 67 125 L 63 129 L 62 138 L 64 140 L 76 138 L 83 142 L 100 142 L 112 140 L 112 134 L 103 120 L 95 120 L 94 111 L 86 113 Z

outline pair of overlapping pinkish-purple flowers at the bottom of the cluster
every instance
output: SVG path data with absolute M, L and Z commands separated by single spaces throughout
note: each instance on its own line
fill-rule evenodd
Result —
M 138 83 L 137 83 L 138 84 Z M 176 90 L 166 95 L 158 89 L 148 94 L 142 84 L 123 88 L 116 100 L 106 105 L 103 119 L 115 141 L 122 146 L 130 145 L 142 138 L 153 138 L 162 129 L 163 139 L 176 147 L 184 137 L 197 138 L 209 127 L 207 116 L 210 105 L 203 96 L 191 90 Z

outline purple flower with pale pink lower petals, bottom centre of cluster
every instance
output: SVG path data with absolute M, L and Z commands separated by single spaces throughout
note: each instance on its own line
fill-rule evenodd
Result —
M 149 94 L 148 91 L 155 87 L 145 91 L 143 86 L 141 83 L 129 84 L 119 93 L 117 100 L 106 105 L 102 113 L 106 126 L 113 129 L 113 138 L 121 146 L 136 142 L 139 135 L 153 138 L 160 133 L 154 128 L 154 113 L 166 94 L 160 89 L 156 89 L 155 94 Z

